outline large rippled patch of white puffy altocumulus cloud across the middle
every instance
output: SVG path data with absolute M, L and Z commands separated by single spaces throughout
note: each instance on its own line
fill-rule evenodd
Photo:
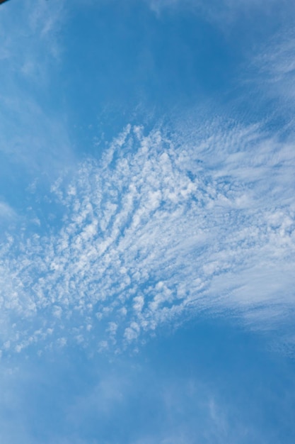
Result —
M 294 309 L 294 177 L 292 141 L 258 125 L 127 126 L 52 185 L 59 228 L 8 235 L 2 352 L 122 350 L 198 313 L 277 328 Z

